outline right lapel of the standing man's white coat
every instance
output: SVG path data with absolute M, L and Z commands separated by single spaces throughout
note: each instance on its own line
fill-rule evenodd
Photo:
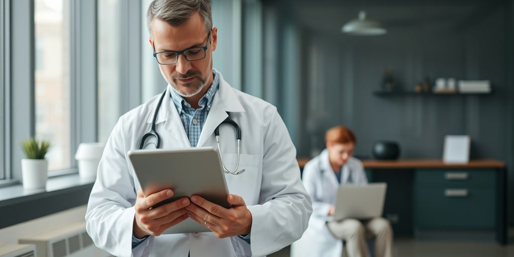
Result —
M 207 120 L 201 130 L 198 147 L 203 146 L 214 133 L 216 127 L 228 117 L 227 112 L 237 113 L 245 111 L 239 99 L 235 96 L 234 89 L 223 79 L 219 72 L 216 76 L 219 76 L 219 88 L 214 95 L 209 115 L 207 115 Z

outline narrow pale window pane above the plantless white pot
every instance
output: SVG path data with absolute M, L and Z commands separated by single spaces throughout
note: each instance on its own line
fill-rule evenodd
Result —
M 106 142 L 120 115 L 120 0 L 98 1 L 98 140 Z

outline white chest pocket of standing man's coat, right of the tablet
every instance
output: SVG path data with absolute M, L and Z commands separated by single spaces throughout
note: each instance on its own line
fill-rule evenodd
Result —
M 230 194 L 243 197 L 246 205 L 256 205 L 259 202 L 261 188 L 262 156 L 241 154 L 237 171 L 245 172 L 234 175 L 225 173 L 225 180 Z M 223 163 L 229 171 L 234 171 L 237 164 L 237 154 L 223 154 Z

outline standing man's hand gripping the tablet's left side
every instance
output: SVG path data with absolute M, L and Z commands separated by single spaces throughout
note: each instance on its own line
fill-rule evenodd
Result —
M 190 204 L 187 197 L 161 205 L 155 209 L 152 206 L 173 196 L 173 190 L 166 189 L 144 197 L 141 190 L 137 191 L 133 233 L 137 238 L 146 235 L 160 235 L 164 230 L 173 227 L 188 218 L 184 208 Z

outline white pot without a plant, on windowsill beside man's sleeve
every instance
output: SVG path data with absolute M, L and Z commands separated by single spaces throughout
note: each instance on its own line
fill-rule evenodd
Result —
M 103 143 L 81 143 L 75 154 L 75 159 L 79 161 L 79 175 L 81 178 L 95 178 L 98 163 L 102 158 Z

